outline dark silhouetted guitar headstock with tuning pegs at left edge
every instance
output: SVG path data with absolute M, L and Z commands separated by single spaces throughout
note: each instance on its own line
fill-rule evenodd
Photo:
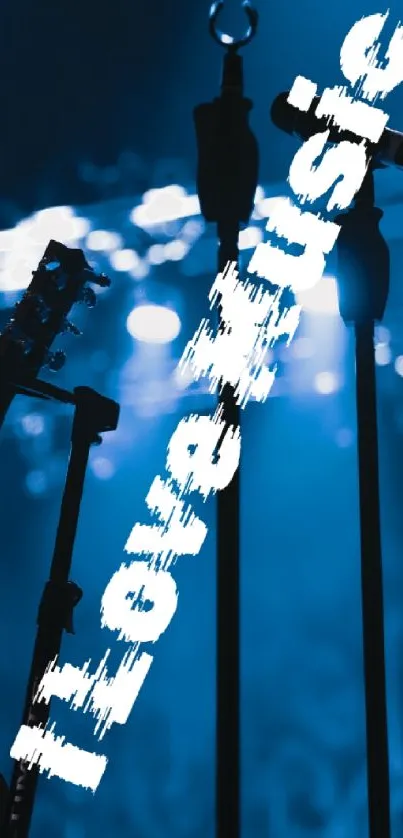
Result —
M 64 352 L 51 353 L 50 347 L 61 333 L 80 334 L 67 317 L 75 303 L 95 305 L 95 293 L 87 282 L 110 285 L 105 274 L 96 274 L 88 265 L 82 250 L 52 239 L 0 335 L 3 381 L 32 380 L 43 366 L 54 371 L 63 366 Z

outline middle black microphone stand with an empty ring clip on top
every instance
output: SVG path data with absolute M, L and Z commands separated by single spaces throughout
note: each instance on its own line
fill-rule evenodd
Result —
M 210 9 L 210 34 L 227 52 L 220 96 L 194 110 L 198 145 L 197 191 L 206 221 L 217 224 L 218 271 L 238 263 L 238 236 L 253 211 L 258 149 L 249 128 L 252 102 L 243 97 L 242 58 L 237 50 L 255 34 L 257 13 L 245 37 L 234 41 L 216 29 L 222 2 Z M 219 329 L 225 324 L 219 309 Z M 240 425 L 234 388 L 221 387 L 219 405 L 229 426 Z M 239 661 L 239 470 L 217 499 L 216 640 L 216 838 L 240 835 L 240 661 Z

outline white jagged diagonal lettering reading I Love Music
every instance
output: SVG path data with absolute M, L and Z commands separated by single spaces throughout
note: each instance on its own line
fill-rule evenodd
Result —
M 325 196 L 334 186 L 327 211 L 346 209 L 362 184 L 368 166 L 367 142 L 377 142 L 388 121 L 388 115 L 369 102 L 383 99 L 403 81 L 400 24 L 383 66 L 378 58 L 387 16 L 363 18 L 345 38 L 340 65 L 352 94 L 347 86 L 326 89 L 316 114 L 332 119 L 360 141 L 340 142 L 323 153 L 329 136 L 326 131 L 304 143 L 291 163 L 288 178 L 302 205 Z M 299 76 L 289 102 L 307 111 L 316 90 L 315 84 Z M 206 376 L 211 392 L 217 392 L 223 382 L 231 384 L 241 407 L 251 398 L 259 402 L 267 399 L 276 375 L 276 367 L 265 363 L 267 350 L 280 337 L 289 344 L 300 317 L 300 307 L 287 304 L 285 300 L 292 295 L 284 292 L 299 292 L 320 280 L 340 227 L 289 199 L 275 198 L 266 230 L 285 240 L 285 246 L 300 245 L 301 255 L 291 255 L 270 240 L 258 245 L 248 274 L 267 280 L 270 291 L 256 280 L 241 282 L 235 264 L 228 263 L 209 295 L 211 309 L 220 306 L 223 329 L 214 333 L 209 321 L 203 320 L 179 363 L 181 370 L 187 367 L 196 379 Z M 240 453 L 240 431 L 226 425 L 219 408 L 211 417 L 194 415 L 179 422 L 168 444 L 165 475 L 155 478 L 146 497 L 152 523 L 135 524 L 125 550 L 136 559 L 121 565 L 102 597 L 101 625 L 128 644 L 116 674 L 108 674 L 110 650 L 98 666 L 87 661 L 81 669 L 70 664 L 59 667 L 56 659 L 47 667 L 35 700 L 49 702 L 57 697 L 74 710 L 89 711 L 95 717 L 94 734 L 99 740 L 113 723 L 128 720 L 153 662 L 141 645 L 161 637 L 177 608 L 171 566 L 178 556 L 196 556 L 207 535 L 207 527 L 188 503 L 188 496 L 198 492 L 206 500 L 224 489 L 238 468 Z M 106 756 L 66 742 L 54 723 L 45 729 L 22 725 L 11 756 L 30 766 L 37 764 L 48 776 L 92 791 L 107 765 Z

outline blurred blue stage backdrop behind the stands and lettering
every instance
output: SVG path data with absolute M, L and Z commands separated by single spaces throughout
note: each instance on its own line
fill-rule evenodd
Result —
M 271 101 L 297 74 L 320 89 L 342 83 L 339 49 L 346 33 L 362 15 L 384 9 L 369 2 L 320 5 L 313 0 L 283 6 L 260 0 L 258 8 L 259 34 L 244 53 L 246 92 L 255 103 L 259 180 L 266 194 L 276 194 L 273 185 L 284 189 L 298 146 L 271 126 Z M 385 44 L 399 21 L 400 5 L 390 8 Z M 201 0 L 3 4 L 4 229 L 34 211 L 71 205 L 93 229 L 119 230 L 125 246 L 143 252 L 151 239 L 145 242 L 137 230 L 135 240 L 126 241 L 119 202 L 133 207 L 147 189 L 169 183 L 194 191 L 192 108 L 216 95 L 220 75 L 221 55 L 208 36 L 207 13 Z M 226 3 L 222 25 L 243 29 L 234 0 Z M 402 105 L 400 87 L 387 100 L 392 127 L 402 127 Z M 392 215 L 385 226 L 392 291 L 385 318 L 389 331 L 380 333 L 378 342 L 387 346 L 390 363 L 379 364 L 378 385 L 393 835 L 398 838 L 403 827 L 403 384 L 393 362 L 403 354 L 403 185 L 399 173 L 382 177 L 380 204 L 397 207 L 394 226 Z M 124 272 L 114 274 L 109 264 L 113 288 L 88 319 L 79 315 L 85 333 L 77 346 L 68 344 L 69 363 L 58 378 L 64 386 L 88 384 L 122 402 L 115 439 L 105 440 L 91 455 L 92 461 L 101 454 L 109 458 L 109 479 L 100 479 L 99 462 L 98 470 L 96 465 L 90 469 L 82 505 L 73 578 L 84 599 L 75 616 L 76 635 L 66 636 L 62 655 L 77 665 L 89 657 L 97 662 L 110 645 L 112 666 L 119 663 L 123 644 L 100 627 L 102 592 L 124 558 L 133 524 L 149 520 L 144 498 L 154 476 L 163 474 L 166 445 L 179 418 L 189 409 L 214 408 L 214 399 L 201 391 L 189 401 L 167 395 L 154 408 L 146 400 L 150 383 L 154 394 L 165 393 L 175 362 L 206 314 L 214 230 L 200 241 L 192 264 L 152 268 L 145 280 L 150 300 L 169 298 L 180 311 L 182 331 L 171 346 L 147 352 L 128 335 L 125 321 L 141 299 L 141 283 Z M 80 246 L 85 249 L 85 241 Z M 102 259 L 100 267 L 105 267 Z M 10 297 L 1 297 L 5 320 Z M 347 838 L 367 829 L 352 336 L 337 316 L 307 313 L 297 337 L 311 341 L 311 355 L 298 361 L 290 352 L 282 358 L 273 398 L 248 406 L 242 426 L 243 838 Z M 338 376 L 339 386 L 328 395 L 315 391 L 315 376 L 323 371 Z M 43 433 L 24 422 L 33 411 L 42 417 Z M 7 777 L 68 443 L 68 411 L 24 399 L 16 400 L 0 439 L 0 769 Z M 92 796 L 43 779 L 32 838 L 212 838 L 214 502 L 200 514 L 209 527 L 207 542 L 200 556 L 183 558 L 175 567 L 177 613 L 153 650 L 154 663 L 130 720 L 105 737 L 109 765 L 99 790 Z M 94 748 L 87 715 L 57 701 L 52 715 L 58 731 L 80 747 Z

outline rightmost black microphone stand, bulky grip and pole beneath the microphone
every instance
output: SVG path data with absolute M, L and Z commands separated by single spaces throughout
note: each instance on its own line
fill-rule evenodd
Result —
M 361 592 L 364 653 L 369 838 L 390 838 L 390 792 L 384 650 L 381 523 L 374 324 L 389 291 L 389 252 L 374 206 L 370 166 L 353 208 L 336 220 L 339 308 L 355 330 Z

